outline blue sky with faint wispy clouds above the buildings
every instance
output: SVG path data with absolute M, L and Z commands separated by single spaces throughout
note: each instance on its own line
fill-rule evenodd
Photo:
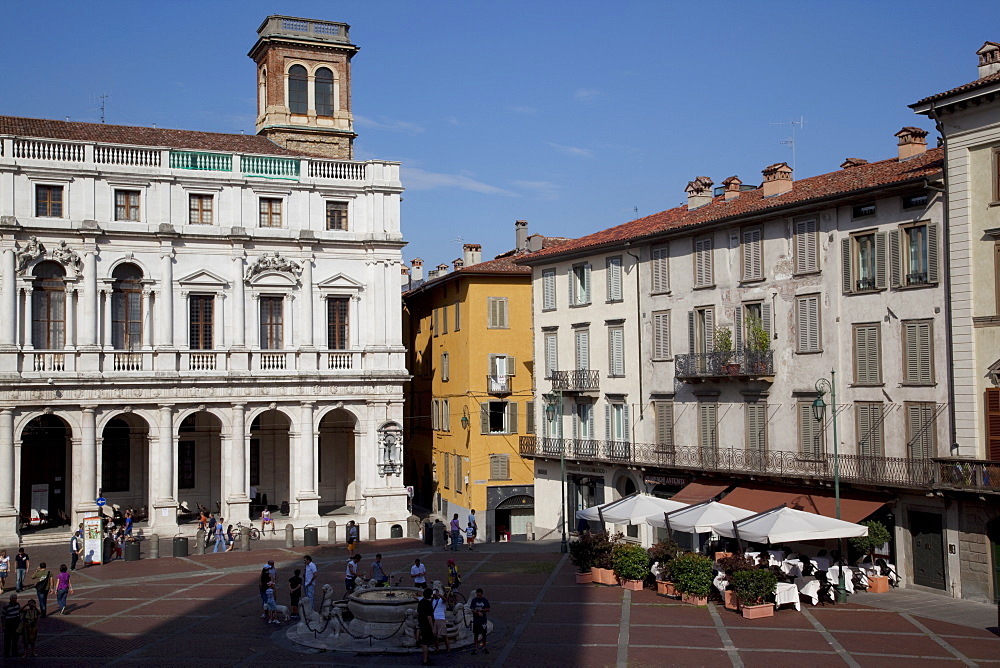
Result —
M 965 6 L 965 9 L 962 7 Z M 976 78 L 1000 3 L 8 2 L 0 114 L 253 132 L 268 14 L 343 21 L 356 157 L 400 160 L 409 260 L 514 220 L 582 236 L 676 206 L 706 175 L 759 183 L 895 154 L 908 103 Z M 933 138 L 933 135 L 932 135 Z

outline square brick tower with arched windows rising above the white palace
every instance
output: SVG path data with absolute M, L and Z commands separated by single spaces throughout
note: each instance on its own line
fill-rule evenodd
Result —
M 257 134 L 292 151 L 354 159 L 346 23 L 268 16 L 247 55 L 257 63 Z

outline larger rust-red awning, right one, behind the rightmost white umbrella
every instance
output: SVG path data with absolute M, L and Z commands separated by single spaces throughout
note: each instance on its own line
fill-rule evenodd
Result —
M 683 491 L 681 490 L 681 493 Z M 860 522 L 885 505 L 887 500 L 857 492 L 841 493 L 840 519 L 847 522 Z M 817 515 L 837 516 L 837 503 L 832 490 L 740 485 L 724 496 L 722 503 L 757 513 L 784 504 L 789 508 Z

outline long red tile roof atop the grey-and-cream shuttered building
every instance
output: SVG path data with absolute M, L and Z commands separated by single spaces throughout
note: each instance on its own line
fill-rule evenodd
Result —
M 900 161 L 897 158 L 882 160 L 850 169 L 821 174 L 795 181 L 792 190 L 774 197 L 764 197 L 763 188 L 747 190 L 730 201 L 718 196 L 710 204 L 688 211 L 687 206 L 679 206 L 645 218 L 639 218 L 616 227 L 574 239 L 553 248 L 544 248 L 534 253 L 521 255 L 518 262 L 535 264 L 536 261 L 583 251 L 607 244 L 621 243 L 651 235 L 677 230 L 701 223 L 722 222 L 740 216 L 766 214 L 790 205 L 803 205 L 829 197 L 846 196 L 880 186 L 919 180 L 941 171 L 942 149 L 927 152 Z

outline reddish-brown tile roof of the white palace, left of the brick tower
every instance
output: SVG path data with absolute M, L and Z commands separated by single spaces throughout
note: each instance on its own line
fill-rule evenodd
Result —
M 223 134 L 193 130 L 169 130 L 131 125 L 105 125 L 103 123 L 77 123 L 43 118 L 18 118 L 0 116 L 0 135 L 35 137 L 39 139 L 65 139 L 92 141 L 131 146 L 156 146 L 191 149 L 195 151 L 225 151 L 229 153 L 256 153 L 262 155 L 302 155 L 278 146 L 260 135 Z

